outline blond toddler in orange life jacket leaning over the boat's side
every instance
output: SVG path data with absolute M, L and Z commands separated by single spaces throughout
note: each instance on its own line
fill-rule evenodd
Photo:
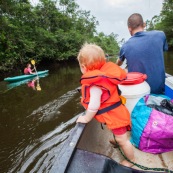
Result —
M 86 109 L 77 123 L 88 123 L 95 118 L 113 132 L 116 142 L 126 157 L 134 161 L 134 151 L 128 139 L 131 128 L 130 114 L 121 103 L 118 84 L 126 79 L 125 70 L 113 62 L 106 62 L 104 51 L 96 44 L 84 44 L 77 56 L 82 77 L 80 79 L 81 104 Z M 127 160 L 122 165 L 132 166 Z

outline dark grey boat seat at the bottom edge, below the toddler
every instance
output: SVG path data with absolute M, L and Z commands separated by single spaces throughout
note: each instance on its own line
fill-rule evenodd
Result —
M 153 173 L 122 166 L 111 158 L 77 149 L 66 173 Z M 156 172 L 155 172 L 156 173 Z M 158 172 L 160 173 L 160 172 Z

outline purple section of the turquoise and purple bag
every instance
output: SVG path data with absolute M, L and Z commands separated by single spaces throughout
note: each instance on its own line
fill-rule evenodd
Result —
M 142 133 L 139 149 L 154 154 L 172 151 L 173 117 L 153 109 Z

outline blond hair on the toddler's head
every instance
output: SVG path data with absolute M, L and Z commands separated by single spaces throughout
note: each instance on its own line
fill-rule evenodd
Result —
M 85 43 L 77 56 L 80 65 L 88 70 L 100 69 L 106 62 L 104 51 L 94 43 Z

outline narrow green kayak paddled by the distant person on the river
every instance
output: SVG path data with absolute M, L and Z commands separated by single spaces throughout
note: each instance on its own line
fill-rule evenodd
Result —
M 4 78 L 4 81 L 7 82 L 16 82 L 16 81 L 21 81 L 21 80 L 25 80 L 25 79 L 30 79 L 33 78 L 35 76 L 39 76 L 39 75 L 43 75 L 48 73 L 49 70 L 44 70 L 44 71 L 38 71 L 36 74 L 29 74 L 29 75 L 20 75 L 20 76 L 14 76 L 14 77 L 7 77 Z

